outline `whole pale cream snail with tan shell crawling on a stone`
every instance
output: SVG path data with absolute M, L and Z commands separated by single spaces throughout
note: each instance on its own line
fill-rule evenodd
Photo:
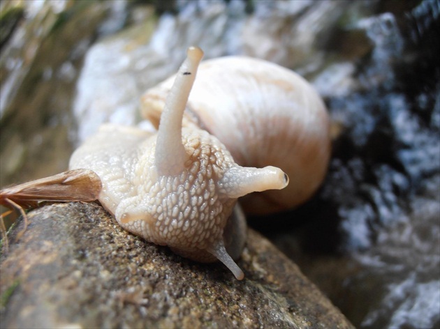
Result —
M 282 190 L 288 174 L 305 185 L 287 195 L 257 196 L 246 208 L 279 211 L 313 193 L 330 154 L 328 116 L 293 72 L 243 57 L 206 61 L 198 71 L 202 57 L 190 47 L 177 75 L 142 97 L 142 112 L 157 133 L 103 125 L 73 153 L 69 167 L 98 175 L 99 201 L 127 231 L 195 261 L 219 260 L 242 280 L 234 259 L 246 223 L 237 198 Z M 262 107 L 269 112 L 260 114 Z

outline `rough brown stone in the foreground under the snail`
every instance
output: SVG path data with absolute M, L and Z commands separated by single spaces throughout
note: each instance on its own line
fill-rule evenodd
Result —
M 97 204 L 52 204 L 10 232 L 2 328 L 353 328 L 268 240 L 249 230 L 237 281 L 124 231 Z

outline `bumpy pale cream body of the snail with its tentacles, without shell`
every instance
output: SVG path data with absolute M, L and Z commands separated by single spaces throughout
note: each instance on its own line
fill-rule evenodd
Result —
M 182 118 L 203 52 L 191 47 L 161 116 L 159 132 L 104 125 L 71 158 L 70 167 L 91 169 L 103 183 L 99 200 L 124 229 L 189 259 L 219 259 L 238 280 L 242 270 L 226 252 L 225 239 L 245 226 L 237 197 L 267 188 L 281 189 L 281 169 L 240 167 L 226 147 L 207 131 L 182 128 Z M 231 213 L 233 215 L 231 216 Z M 234 220 L 228 223 L 228 218 Z M 239 231 L 225 232 L 225 227 Z M 243 242 L 228 241 L 240 251 Z

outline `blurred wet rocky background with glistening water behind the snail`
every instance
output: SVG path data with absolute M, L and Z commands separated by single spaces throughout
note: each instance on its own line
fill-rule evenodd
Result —
M 81 72 L 69 80 L 70 91 L 61 93 L 62 106 L 27 83 L 15 96 L 21 105 L 1 117 L 1 185 L 66 169 L 69 141 L 92 133 L 93 122 L 138 121 L 122 114 L 138 113 L 133 98 L 173 74 L 188 45 L 203 47 L 205 58 L 244 54 L 268 59 L 296 70 L 323 95 L 335 122 L 334 152 L 328 178 L 314 199 L 295 211 L 249 222 L 298 263 L 356 327 L 439 326 L 439 1 L 167 3 L 156 12 L 161 15 L 139 3 L 94 4 L 104 13 L 102 24 L 93 36 L 85 31 L 82 40 L 88 41 L 69 53 L 89 49 Z M 75 10 L 66 6 L 56 13 Z M 120 33 L 102 38 L 123 26 Z M 2 65 L 9 56 L 3 49 L 17 40 L 14 33 L 2 44 Z M 46 52 L 39 58 L 58 54 L 47 51 L 52 47 L 41 47 Z M 82 56 L 78 59 L 73 63 L 80 66 Z M 38 72 L 39 66 L 34 67 Z M 29 82 L 41 85 L 31 79 L 34 70 L 24 71 Z M 59 84 L 59 75 L 43 76 L 43 86 Z M 34 98 L 27 100 L 29 94 Z M 48 101 L 35 102 L 44 99 Z M 28 119 L 24 111 L 47 105 L 69 114 L 34 111 L 36 118 Z M 59 129 L 60 117 L 75 132 L 56 139 L 57 145 L 66 143 L 62 153 L 54 142 L 46 143 L 50 138 L 41 139 L 49 135 L 39 130 L 29 138 L 15 137 L 33 131 L 29 122 Z M 36 148 L 40 143 L 44 151 Z

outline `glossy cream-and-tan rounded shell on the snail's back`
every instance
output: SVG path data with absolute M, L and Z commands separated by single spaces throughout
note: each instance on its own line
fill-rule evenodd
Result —
M 175 77 L 142 96 L 142 115 L 154 125 Z M 330 158 L 330 121 L 323 101 L 302 77 L 274 63 L 240 56 L 201 63 L 184 114 L 216 136 L 246 167 L 273 165 L 290 179 L 284 190 L 240 199 L 247 213 L 293 208 L 313 194 Z

